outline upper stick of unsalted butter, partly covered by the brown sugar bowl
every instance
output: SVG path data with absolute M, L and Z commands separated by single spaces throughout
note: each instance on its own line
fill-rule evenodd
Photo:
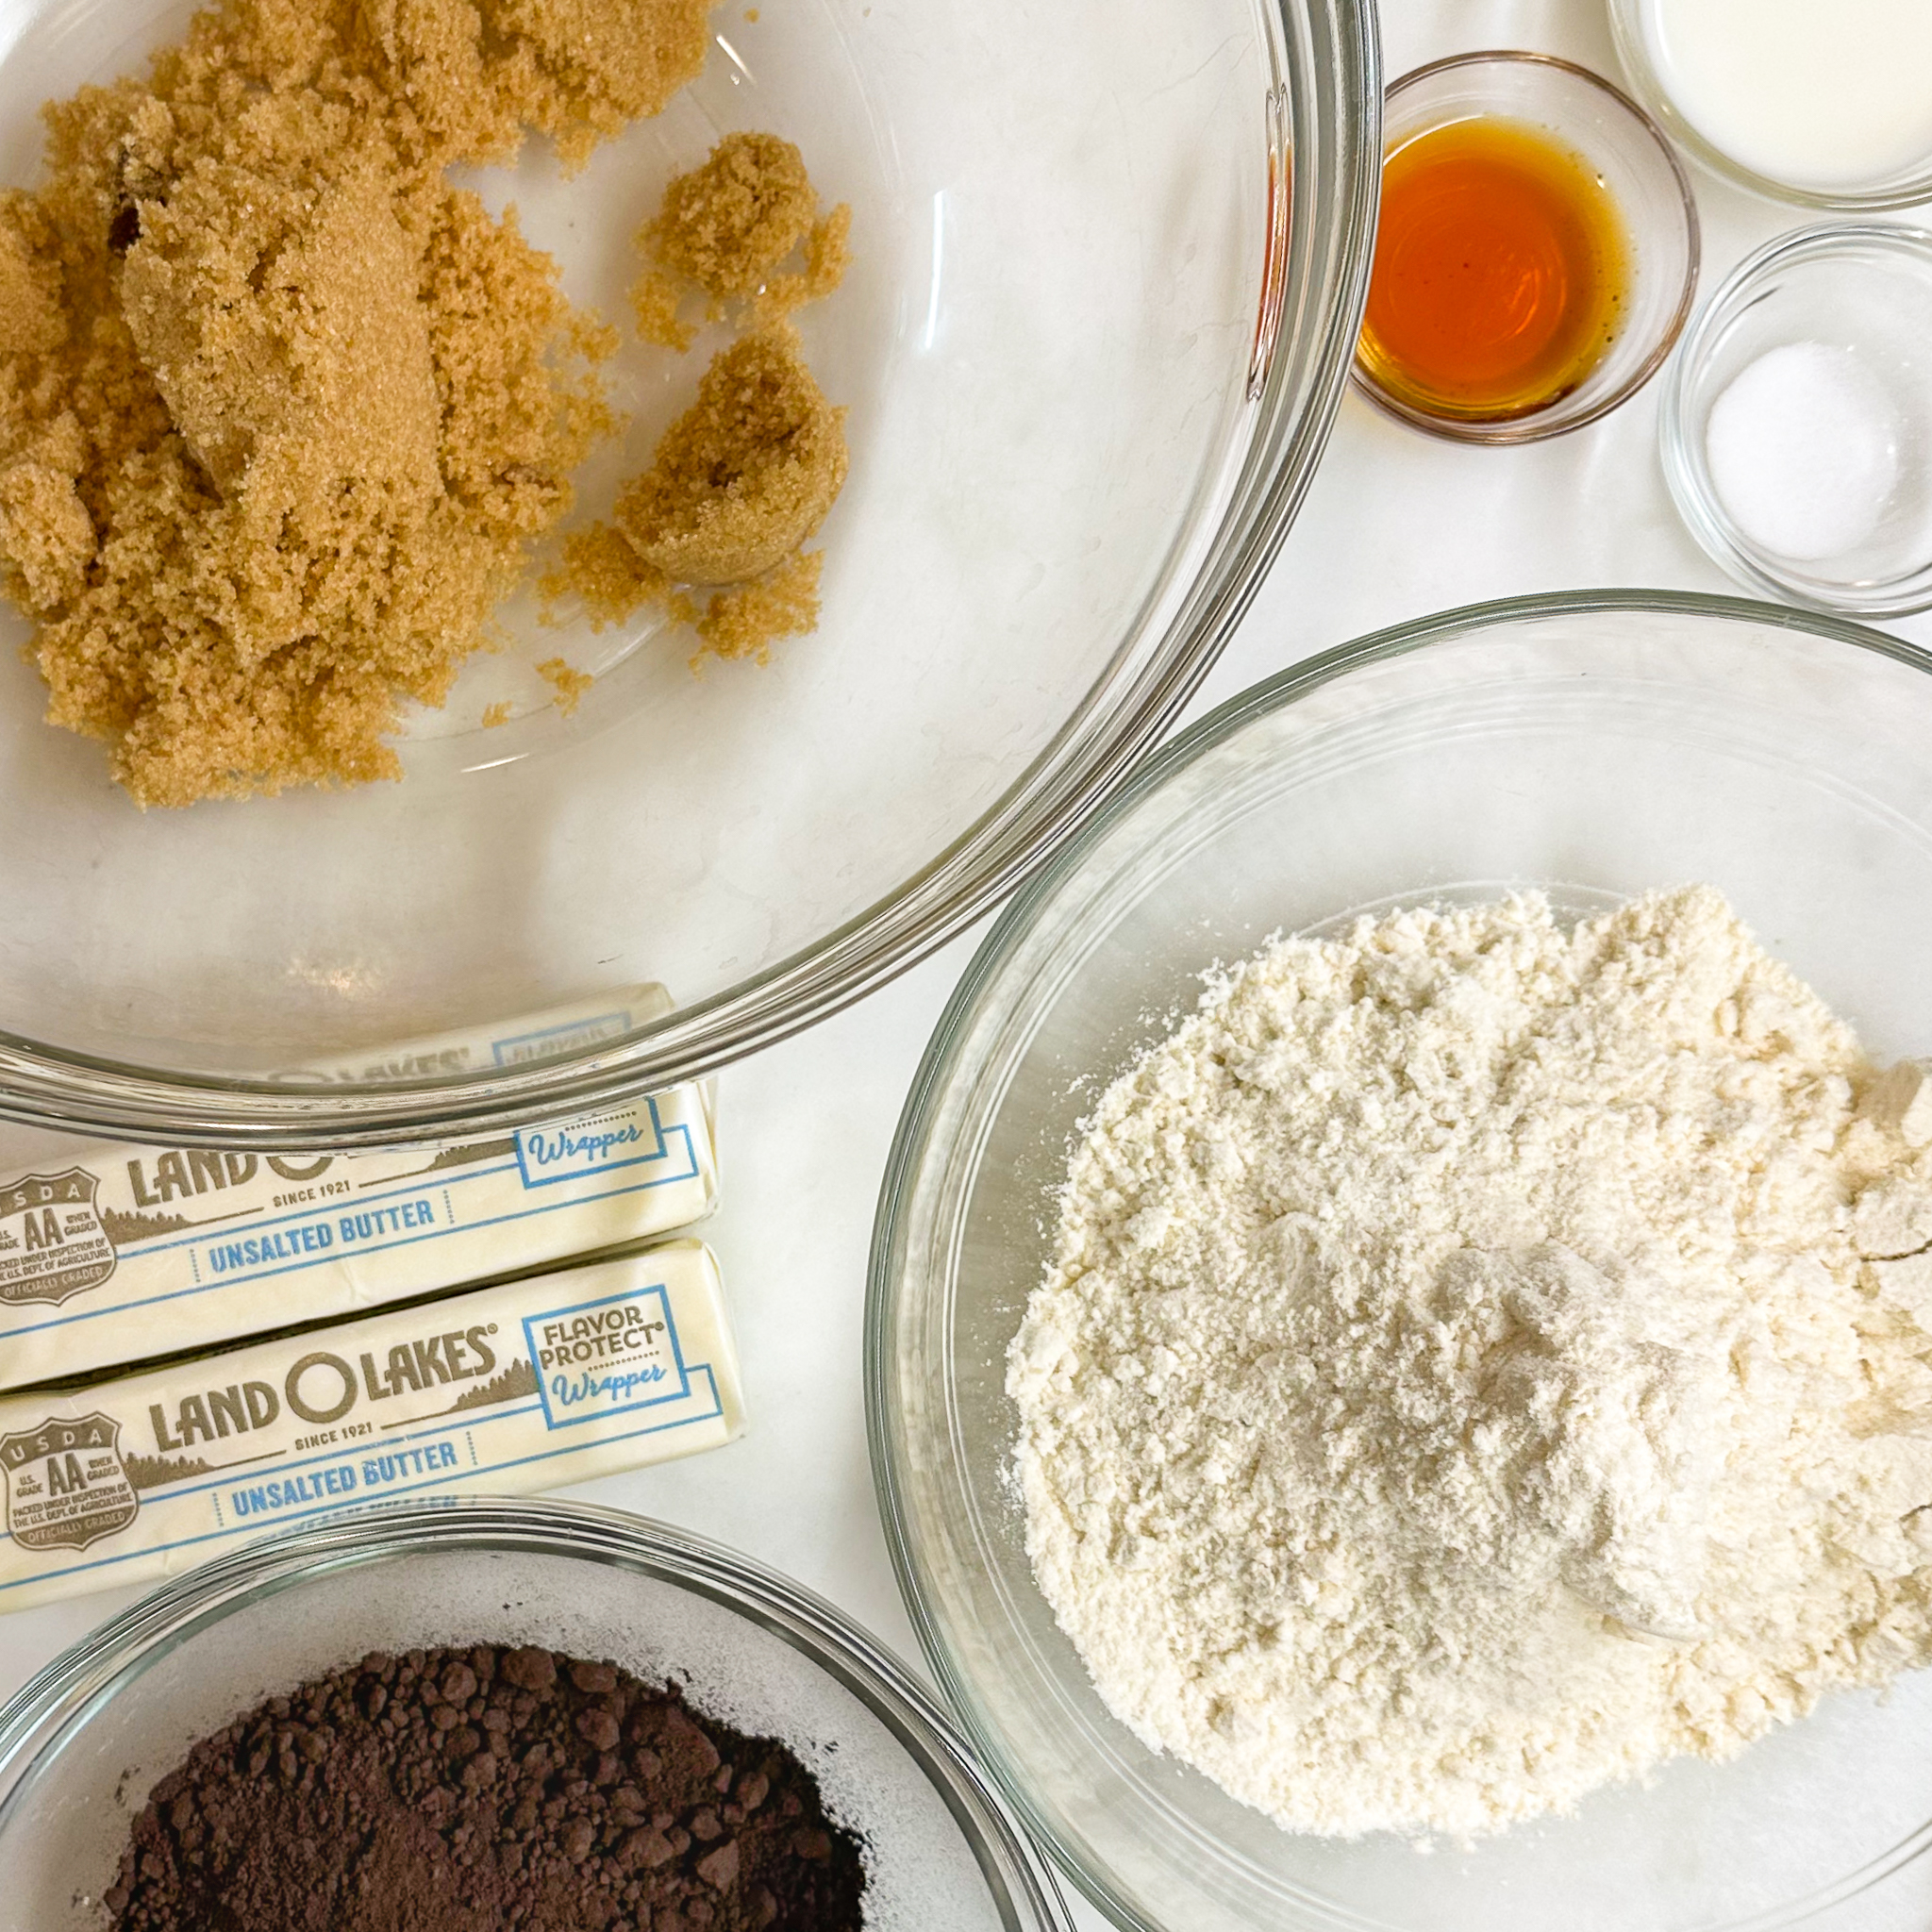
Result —
M 0 1165 L 0 1389 L 634 1244 L 717 1204 L 701 1084 L 429 1150 L 31 1146 Z

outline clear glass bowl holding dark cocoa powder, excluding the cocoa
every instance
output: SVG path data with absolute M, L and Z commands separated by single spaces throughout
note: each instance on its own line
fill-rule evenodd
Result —
M 371 1650 L 543 1644 L 676 1679 L 779 1737 L 866 1839 L 867 1932 L 1070 1932 L 929 1696 L 829 1604 L 612 1509 L 417 1503 L 270 1536 L 164 1584 L 0 1710 L 0 1932 L 99 1928 L 149 1787 L 265 1696 Z

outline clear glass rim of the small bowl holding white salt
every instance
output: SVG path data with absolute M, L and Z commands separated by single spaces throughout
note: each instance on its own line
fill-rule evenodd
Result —
M 1683 526 L 1698 541 L 1704 554 L 1741 583 L 1810 611 L 1861 618 L 1913 616 L 1920 611 L 1932 611 L 1932 558 L 1926 558 L 1913 580 L 1903 580 L 1917 582 L 1917 589 L 1861 601 L 1826 599 L 1816 589 L 1814 580 L 1779 576 L 1766 553 L 1747 543 L 1743 531 L 1725 512 L 1702 452 L 1690 440 L 1685 423 L 1690 384 L 1702 377 L 1716 334 L 1750 307 L 1758 286 L 1791 263 L 1830 261 L 1833 255 L 1853 249 L 1905 255 L 1932 269 L 1932 230 L 1907 222 L 1806 222 L 1754 247 L 1710 292 L 1685 332 L 1683 354 L 1671 365 L 1660 390 L 1658 458 Z

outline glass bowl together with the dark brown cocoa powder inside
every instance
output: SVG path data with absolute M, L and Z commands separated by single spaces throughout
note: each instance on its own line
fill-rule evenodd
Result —
M 715 1544 L 415 1505 L 166 1584 L 0 1712 L 0 1932 L 1066 1932 L 918 1685 Z

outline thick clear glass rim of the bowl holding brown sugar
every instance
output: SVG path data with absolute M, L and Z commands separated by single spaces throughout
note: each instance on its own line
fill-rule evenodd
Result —
M 0 1026 L 0 1117 L 166 1146 L 348 1150 L 589 1113 L 775 1045 L 889 983 L 1010 893 L 1173 724 L 1246 612 L 1327 444 L 1368 299 L 1381 185 L 1374 0 L 1260 0 L 1267 228 L 1246 440 L 1165 626 L 1115 657 L 949 846 L 842 925 L 614 1043 L 383 1086 L 278 1086 L 56 1049 Z M 1323 58 L 1304 58 L 1316 35 Z M 1291 164 L 1294 162 L 1294 164 Z

